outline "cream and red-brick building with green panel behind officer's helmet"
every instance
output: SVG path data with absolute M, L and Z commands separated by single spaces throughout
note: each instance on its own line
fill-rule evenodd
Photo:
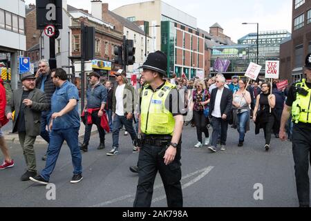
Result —
M 197 31 L 195 17 L 160 0 L 121 6 L 113 12 L 130 21 L 145 21 L 143 28 L 152 39 L 151 52 L 162 50 L 167 55 L 169 76 L 204 75 L 204 35 Z

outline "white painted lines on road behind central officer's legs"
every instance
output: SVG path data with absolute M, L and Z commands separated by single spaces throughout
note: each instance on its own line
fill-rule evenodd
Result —
M 184 177 L 182 177 L 181 180 L 185 180 L 185 179 L 187 179 L 187 178 L 189 178 L 189 177 L 192 177 L 192 176 L 194 176 L 194 175 L 196 175 L 196 174 L 198 174 L 198 173 L 201 173 L 200 175 L 198 175 L 197 177 L 195 177 L 193 180 L 190 180 L 190 181 L 187 182 L 186 184 L 183 184 L 183 185 L 182 185 L 182 189 L 185 189 L 185 188 L 191 186 L 192 184 L 198 182 L 199 180 L 201 180 L 201 179 L 202 179 L 203 177 L 205 177 L 205 176 L 211 171 L 211 169 L 213 169 L 213 168 L 214 168 L 214 166 L 208 166 L 208 167 L 206 167 L 206 168 L 204 168 L 204 169 L 200 169 L 200 170 L 198 170 L 198 171 L 195 171 L 195 172 L 193 172 L 193 173 L 189 173 L 189 174 L 185 175 Z M 158 185 L 156 185 L 156 186 L 153 187 L 153 190 L 160 189 L 160 188 L 162 188 L 162 187 L 163 187 L 163 184 L 158 184 Z M 123 195 L 123 196 L 120 197 L 120 198 L 115 198 L 115 199 L 113 199 L 113 200 L 109 200 L 109 201 L 106 201 L 106 202 L 102 202 L 102 203 L 100 203 L 100 204 L 95 204 L 95 205 L 93 205 L 93 206 L 91 206 L 91 207 L 102 207 L 102 206 L 106 206 L 106 205 L 109 205 L 109 204 L 113 204 L 113 203 L 115 203 L 115 202 L 119 202 L 119 201 L 126 200 L 126 199 L 128 199 L 128 198 L 133 198 L 134 196 L 135 196 L 135 194 Z M 166 195 L 161 195 L 160 197 L 153 199 L 152 202 L 158 202 L 158 201 L 160 201 L 160 200 L 164 200 L 165 198 L 166 198 Z

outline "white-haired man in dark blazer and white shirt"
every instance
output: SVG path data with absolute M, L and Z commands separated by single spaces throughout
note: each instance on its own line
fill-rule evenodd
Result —
M 217 151 L 219 135 L 220 150 L 225 151 L 229 119 L 232 119 L 232 91 L 225 88 L 225 82 L 225 77 L 218 76 L 216 79 L 217 88 L 211 91 L 209 117 L 211 118 L 213 133 L 211 135 L 211 146 L 209 146 L 209 149 L 213 152 Z

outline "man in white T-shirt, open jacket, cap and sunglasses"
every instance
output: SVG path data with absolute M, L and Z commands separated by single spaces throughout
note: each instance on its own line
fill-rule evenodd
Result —
M 134 88 L 126 84 L 127 79 L 122 74 L 124 71 L 121 70 L 115 75 L 117 86 L 113 90 L 113 147 L 109 153 L 106 153 L 108 156 L 119 154 L 119 134 L 123 125 L 131 135 L 133 153 L 138 153 L 136 148 L 137 135 L 133 128 Z

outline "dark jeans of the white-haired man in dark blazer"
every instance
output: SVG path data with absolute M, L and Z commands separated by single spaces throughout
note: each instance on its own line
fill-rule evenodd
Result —
M 217 140 L 220 135 L 220 145 L 226 145 L 227 142 L 227 131 L 228 131 L 227 120 L 223 120 L 218 117 L 211 117 L 211 126 L 213 127 L 213 133 L 211 134 L 211 146 L 217 147 Z

